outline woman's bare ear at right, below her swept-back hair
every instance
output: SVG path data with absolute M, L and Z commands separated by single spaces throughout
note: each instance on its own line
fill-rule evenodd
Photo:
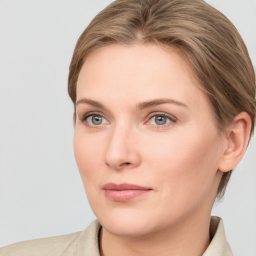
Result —
M 233 169 L 242 159 L 249 141 L 250 128 L 251 119 L 248 113 L 240 112 L 235 116 L 224 135 L 227 143 L 218 166 L 221 172 Z

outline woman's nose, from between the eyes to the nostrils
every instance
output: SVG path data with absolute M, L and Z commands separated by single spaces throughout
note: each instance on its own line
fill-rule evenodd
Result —
M 124 126 L 116 126 L 111 131 L 105 151 L 105 164 L 115 170 L 134 168 L 140 164 L 136 132 Z

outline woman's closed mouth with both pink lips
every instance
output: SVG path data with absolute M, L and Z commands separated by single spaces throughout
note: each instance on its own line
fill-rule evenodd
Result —
M 102 186 L 102 189 L 107 199 L 121 202 L 129 201 L 152 190 L 152 188 L 149 187 L 127 183 L 106 183 Z

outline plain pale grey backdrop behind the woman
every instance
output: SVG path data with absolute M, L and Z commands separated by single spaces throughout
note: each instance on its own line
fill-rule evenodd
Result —
M 68 65 L 76 40 L 111 0 L 0 1 L 0 246 L 84 229 L 95 218 L 75 164 Z M 256 63 L 256 1 L 208 0 Z M 236 255 L 256 255 L 256 142 L 212 214 Z

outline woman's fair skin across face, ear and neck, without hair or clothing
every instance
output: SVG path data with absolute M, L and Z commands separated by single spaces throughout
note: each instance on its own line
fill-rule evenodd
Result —
M 199 256 L 209 244 L 218 183 L 250 118 L 220 137 L 191 75 L 173 50 L 145 44 L 101 48 L 80 70 L 74 153 L 104 256 Z

